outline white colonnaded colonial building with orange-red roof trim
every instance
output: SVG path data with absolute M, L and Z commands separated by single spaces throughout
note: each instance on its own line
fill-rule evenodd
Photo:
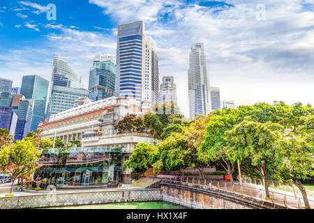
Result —
M 80 101 L 80 100 L 77 100 Z M 123 162 L 132 155 L 135 144 L 154 143 L 147 133 L 130 132 L 118 134 L 114 125 L 128 114 L 143 116 L 151 109 L 150 102 L 133 98 L 106 98 L 87 102 L 51 116 L 49 122 L 40 123 L 43 138 L 60 138 L 63 141 L 80 139 L 84 148 L 120 148 Z M 122 173 L 122 181 L 129 182 L 130 170 Z

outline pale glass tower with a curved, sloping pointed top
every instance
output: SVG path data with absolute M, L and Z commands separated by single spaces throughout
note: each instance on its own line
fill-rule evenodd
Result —
M 46 119 L 49 120 L 50 116 L 73 108 L 78 98 L 88 97 L 89 91 L 82 87 L 78 72 L 60 56 L 54 56 Z

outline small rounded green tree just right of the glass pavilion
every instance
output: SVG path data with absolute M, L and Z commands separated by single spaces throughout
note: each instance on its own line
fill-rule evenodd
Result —
M 144 175 L 144 171 L 151 167 L 152 159 L 154 159 L 156 153 L 156 146 L 147 143 L 137 144 L 130 159 L 124 162 L 123 169 L 134 169 L 137 173 Z

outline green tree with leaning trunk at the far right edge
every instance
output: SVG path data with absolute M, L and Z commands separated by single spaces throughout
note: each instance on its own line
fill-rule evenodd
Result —
M 306 194 L 306 188 L 302 185 L 301 180 L 309 179 L 314 176 L 313 154 L 314 147 L 304 137 L 283 138 L 280 141 L 283 150 L 283 159 L 280 163 L 280 173 L 284 181 L 292 181 L 301 191 L 306 208 L 310 209 L 310 203 Z

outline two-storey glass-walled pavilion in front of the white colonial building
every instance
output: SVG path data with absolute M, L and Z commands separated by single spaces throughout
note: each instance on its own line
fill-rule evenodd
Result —
M 117 186 L 121 180 L 121 148 L 51 148 L 40 159 L 43 164 L 34 180 L 58 187 Z

